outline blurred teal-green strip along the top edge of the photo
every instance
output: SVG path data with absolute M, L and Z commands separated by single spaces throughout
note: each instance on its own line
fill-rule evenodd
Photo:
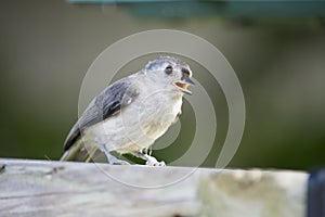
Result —
M 315 17 L 325 16 L 325 1 L 199 1 L 199 0 L 68 0 L 79 4 L 127 5 L 135 16 Z

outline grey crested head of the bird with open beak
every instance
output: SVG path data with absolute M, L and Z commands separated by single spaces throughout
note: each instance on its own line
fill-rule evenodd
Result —
M 151 61 L 141 73 L 158 88 L 191 94 L 187 87 L 194 85 L 190 66 L 171 56 L 159 56 Z

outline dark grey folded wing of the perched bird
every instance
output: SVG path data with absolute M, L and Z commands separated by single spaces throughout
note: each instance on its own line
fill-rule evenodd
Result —
M 84 128 L 113 116 L 123 106 L 130 104 L 138 94 L 139 91 L 132 86 L 130 77 L 122 78 L 108 86 L 91 101 L 72 128 L 64 142 L 64 150 L 68 150 L 81 137 L 81 131 Z

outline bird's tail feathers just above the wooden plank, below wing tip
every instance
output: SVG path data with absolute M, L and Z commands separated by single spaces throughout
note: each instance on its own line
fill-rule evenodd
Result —
M 79 139 L 64 152 L 60 161 L 93 162 L 93 157 L 98 155 L 99 152 L 101 151 L 96 145 L 87 145 Z

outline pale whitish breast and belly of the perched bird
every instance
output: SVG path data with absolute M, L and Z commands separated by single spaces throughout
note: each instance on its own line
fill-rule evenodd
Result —
M 134 102 L 120 113 L 89 129 L 95 142 L 105 144 L 108 151 L 130 153 L 151 146 L 174 122 L 181 111 L 182 99 L 172 103 L 160 99 L 155 102 Z

